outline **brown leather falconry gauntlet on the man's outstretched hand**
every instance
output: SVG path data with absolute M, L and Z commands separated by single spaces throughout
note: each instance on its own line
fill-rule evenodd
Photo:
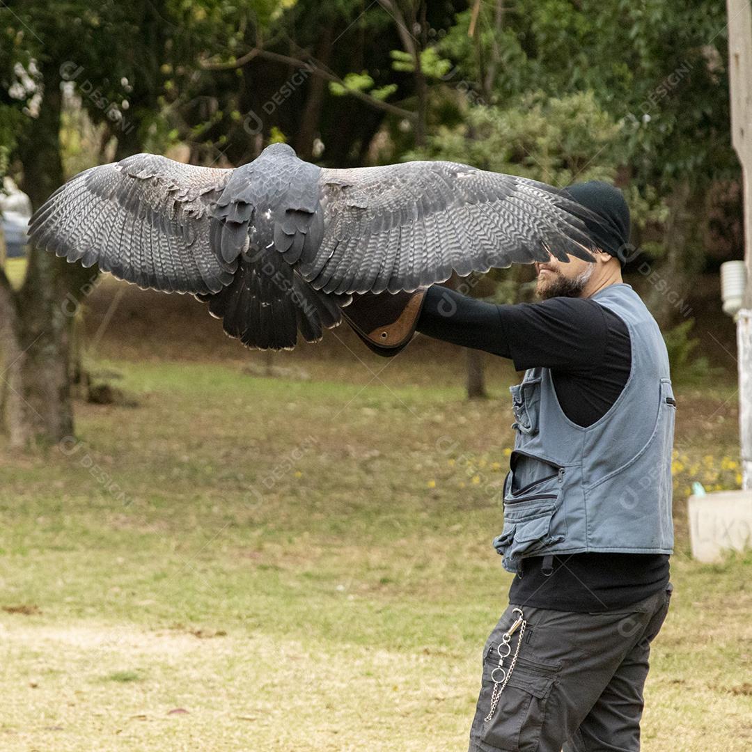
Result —
M 399 353 L 415 334 L 426 288 L 414 293 L 363 293 L 353 295 L 342 316 L 374 353 L 390 357 Z

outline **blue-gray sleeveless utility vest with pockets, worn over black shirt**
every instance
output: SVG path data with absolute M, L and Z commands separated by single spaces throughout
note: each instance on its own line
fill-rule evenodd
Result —
M 629 329 L 632 369 L 592 426 L 572 423 L 548 368 L 511 387 L 516 437 L 504 483 L 504 529 L 493 545 L 509 572 L 526 556 L 672 553 L 676 402 L 660 329 L 628 284 L 593 296 Z

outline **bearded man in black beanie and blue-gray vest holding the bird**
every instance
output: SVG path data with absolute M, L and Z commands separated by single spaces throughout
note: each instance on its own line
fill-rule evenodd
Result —
M 605 221 L 590 228 L 596 243 L 626 247 L 619 190 L 590 181 L 569 193 Z M 397 312 L 364 301 L 348 315 L 376 350 L 380 334 L 399 348 L 415 328 L 525 370 L 511 387 L 515 444 L 493 541 L 515 576 L 484 649 L 470 752 L 638 750 L 650 641 L 669 609 L 666 346 L 618 257 L 569 258 L 536 263 L 539 303 L 492 305 L 434 286 L 394 296 Z M 378 326 L 380 314 L 393 325 Z

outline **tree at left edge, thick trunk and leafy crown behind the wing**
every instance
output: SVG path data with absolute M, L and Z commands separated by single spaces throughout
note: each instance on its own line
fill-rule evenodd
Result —
M 107 126 L 120 155 L 158 142 L 168 100 L 190 98 L 199 56 L 232 49 L 241 20 L 263 23 L 275 9 L 271 0 L 0 5 L 0 166 L 20 174 L 35 208 L 62 183 L 62 86 Z M 14 446 L 73 431 L 71 306 L 91 277 L 34 247 L 20 290 L 0 269 L 5 423 Z

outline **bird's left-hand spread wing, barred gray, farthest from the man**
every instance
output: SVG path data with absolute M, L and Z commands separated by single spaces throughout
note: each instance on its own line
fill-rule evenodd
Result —
M 232 170 L 136 154 L 61 186 L 29 223 L 36 246 L 165 293 L 217 293 L 237 259 L 211 250 L 208 208 Z

